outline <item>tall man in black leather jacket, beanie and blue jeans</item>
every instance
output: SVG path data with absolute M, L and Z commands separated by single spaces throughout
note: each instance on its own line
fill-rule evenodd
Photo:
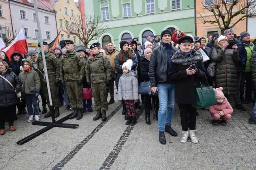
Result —
M 154 48 L 150 63 L 149 77 L 152 92 L 158 91 L 159 111 L 158 111 L 158 130 L 159 142 L 166 144 L 164 131 L 172 136 L 177 133 L 171 128 L 171 120 L 174 110 L 174 84 L 168 77 L 168 68 L 171 65 L 171 57 L 178 50 L 172 47 L 172 33 L 170 30 L 164 30 L 161 33 L 162 44 Z

